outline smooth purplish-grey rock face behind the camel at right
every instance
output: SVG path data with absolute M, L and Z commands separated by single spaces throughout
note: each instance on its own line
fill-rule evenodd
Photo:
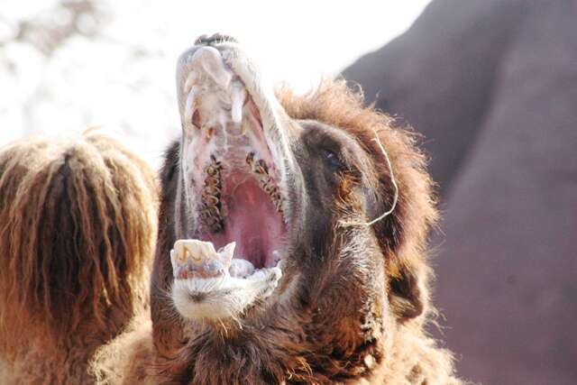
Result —
M 434 0 L 343 71 L 426 136 L 436 303 L 464 378 L 577 378 L 577 1 Z

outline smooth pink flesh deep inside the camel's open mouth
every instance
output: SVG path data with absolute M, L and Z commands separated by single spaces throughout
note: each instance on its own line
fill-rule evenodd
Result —
M 236 242 L 234 258 L 251 261 L 255 269 L 273 266 L 284 225 L 270 197 L 246 174 L 231 175 L 225 185 L 224 243 Z

